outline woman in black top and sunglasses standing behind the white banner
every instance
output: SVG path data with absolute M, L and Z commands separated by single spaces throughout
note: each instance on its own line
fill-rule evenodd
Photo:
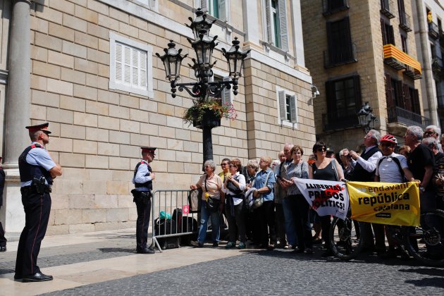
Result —
M 339 181 L 344 178 L 343 168 L 338 164 L 338 161 L 326 157 L 326 144 L 316 142 L 313 146 L 313 153 L 316 155 L 316 161 L 312 166 L 309 166 L 310 179 Z M 330 215 L 321 216 L 322 239 L 327 249 L 326 252 L 321 254 L 322 257 L 333 256 L 330 249 L 330 240 L 328 239 L 330 224 Z

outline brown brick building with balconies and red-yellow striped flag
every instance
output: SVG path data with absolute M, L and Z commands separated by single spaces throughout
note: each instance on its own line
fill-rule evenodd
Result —
M 335 152 L 359 149 L 357 112 L 366 101 L 376 130 L 398 142 L 408 125 L 428 122 L 412 1 L 302 0 L 301 6 L 306 65 L 321 93 L 314 99 L 317 139 Z

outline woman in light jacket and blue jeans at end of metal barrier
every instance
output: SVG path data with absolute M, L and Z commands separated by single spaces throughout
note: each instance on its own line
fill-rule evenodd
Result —
M 202 206 L 200 211 L 200 228 L 197 242 L 192 242 L 195 247 L 204 247 L 208 219 L 211 217 L 211 233 L 213 236 L 213 247 L 217 247 L 221 235 L 221 211 L 223 209 L 223 195 L 221 177 L 216 175 L 216 164 L 212 160 L 205 161 L 204 175 L 190 189 L 202 188 Z

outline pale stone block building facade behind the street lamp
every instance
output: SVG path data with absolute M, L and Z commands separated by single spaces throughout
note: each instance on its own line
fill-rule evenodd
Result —
M 171 97 L 154 56 L 173 40 L 195 56 L 184 23 L 198 7 L 216 18 L 214 79 L 228 76 L 221 48 L 238 37 L 251 49 L 239 94 L 226 94 L 238 118 L 213 130 L 214 160 L 276 158 L 285 142 L 314 144 L 312 77 L 304 65 L 297 0 L 1 0 L 0 137 L 6 189 L 0 219 L 20 233 L 18 155 L 25 125 L 48 121 L 47 149 L 63 167 L 53 187 L 48 233 L 129 228 L 130 190 L 140 146 L 158 147 L 155 189 L 187 189 L 202 174 L 202 131 L 183 123 L 192 99 Z M 11 30 L 11 27 L 13 30 Z M 8 39 L 10 40 L 8 42 Z M 7 62 L 6 62 L 7 61 Z M 185 60 L 181 82 L 195 81 Z

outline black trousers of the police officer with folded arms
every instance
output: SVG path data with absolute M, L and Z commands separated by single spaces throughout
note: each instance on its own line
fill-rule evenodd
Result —
M 47 233 L 51 196 L 49 193 L 39 195 L 30 190 L 21 190 L 22 204 L 25 209 L 25 228 L 18 242 L 16 277 L 29 276 L 40 272 L 37 257 L 40 245 Z

